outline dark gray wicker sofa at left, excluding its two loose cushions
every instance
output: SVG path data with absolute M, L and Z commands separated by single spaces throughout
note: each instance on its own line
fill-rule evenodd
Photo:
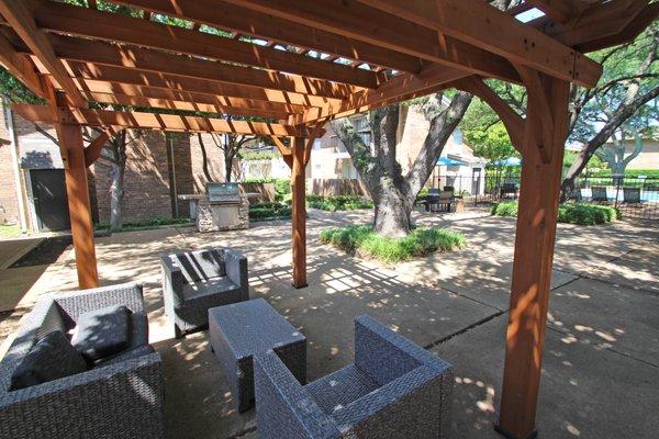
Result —
M 161 438 L 163 374 L 148 326 L 135 325 L 131 349 L 75 375 L 11 391 L 11 376 L 38 339 L 65 334 L 80 314 L 126 305 L 145 316 L 142 285 L 120 285 L 47 296 L 24 317 L 0 362 L 1 438 Z

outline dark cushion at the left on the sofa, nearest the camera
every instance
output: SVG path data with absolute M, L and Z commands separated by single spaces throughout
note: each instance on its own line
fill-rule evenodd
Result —
M 27 352 L 11 376 L 11 390 L 85 372 L 87 362 L 60 330 L 48 333 Z

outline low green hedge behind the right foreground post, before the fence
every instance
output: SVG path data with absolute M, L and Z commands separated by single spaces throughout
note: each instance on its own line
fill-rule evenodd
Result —
M 491 214 L 496 216 L 517 216 L 517 202 L 504 201 L 494 204 Z M 612 206 L 588 203 L 566 203 L 558 206 L 559 223 L 593 226 L 596 224 L 611 223 L 618 218 L 618 211 Z

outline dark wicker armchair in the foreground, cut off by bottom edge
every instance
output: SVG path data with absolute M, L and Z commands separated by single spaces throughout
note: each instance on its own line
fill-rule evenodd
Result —
M 355 363 L 301 385 L 273 351 L 254 359 L 260 439 L 446 438 L 453 367 L 368 316 Z

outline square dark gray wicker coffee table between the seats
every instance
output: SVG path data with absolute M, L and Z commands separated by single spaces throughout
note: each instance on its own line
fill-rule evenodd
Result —
M 239 412 L 254 405 L 257 353 L 273 349 L 297 380 L 306 382 L 306 338 L 263 299 L 210 309 L 209 336 Z

